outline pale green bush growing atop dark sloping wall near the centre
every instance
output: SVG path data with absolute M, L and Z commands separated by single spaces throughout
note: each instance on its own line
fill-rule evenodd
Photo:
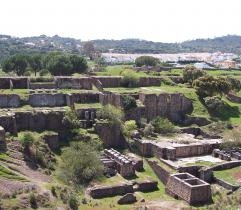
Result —
M 96 115 L 98 119 L 108 120 L 110 121 L 110 123 L 116 126 L 122 125 L 122 120 L 124 117 L 124 114 L 121 111 L 121 109 L 109 104 L 98 110 Z

